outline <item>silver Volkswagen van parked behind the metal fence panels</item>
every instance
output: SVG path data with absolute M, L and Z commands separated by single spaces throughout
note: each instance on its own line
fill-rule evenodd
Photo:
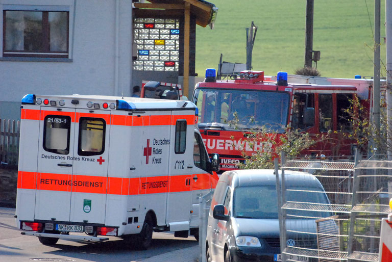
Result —
M 328 204 L 323 186 L 309 173 L 285 171 L 286 200 Z M 295 191 L 290 191 L 290 189 Z M 320 192 L 309 194 L 311 192 Z M 299 215 L 289 210 L 287 215 Z M 286 228 L 310 234 L 287 234 L 291 244 L 317 248 L 316 217 L 330 212 L 301 211 L 286 219 Z M 290 216 L 287 216 L 290 218 Z M 294 241 L 296 240 L 296 241 Z M 274 170 L 226 171 L 219 177 L 208 217 L 206 259 L 211 261 L 274 261 L 280 253 L 278 201 Z M 308 261 L 301 257 L 301 261 Z

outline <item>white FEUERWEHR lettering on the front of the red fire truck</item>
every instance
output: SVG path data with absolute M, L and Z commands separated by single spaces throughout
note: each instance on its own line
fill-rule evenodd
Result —
M 250 142 L 238 140 L 225 139 L 203 139 L 204 144 L 208 149 L 217 150 L 245 150 L 245 151 L 259 151 L 262 149 L 270 150 L 272 143 L 269 142 Z

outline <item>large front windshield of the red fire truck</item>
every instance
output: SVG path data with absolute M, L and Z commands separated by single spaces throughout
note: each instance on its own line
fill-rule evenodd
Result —
M 193 102 L 199 109 L 199 126 L 234 129 L 261 128 L 283 132 L 290 97 L 285 92 L 196 89 Z

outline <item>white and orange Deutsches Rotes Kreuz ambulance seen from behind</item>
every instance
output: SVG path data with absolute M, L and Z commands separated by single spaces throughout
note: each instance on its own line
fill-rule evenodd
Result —
M 94 95 L 22 98 L 16 221 L 44 245 L 153 231 L 198 238 L 217 184 L 190 101 Z

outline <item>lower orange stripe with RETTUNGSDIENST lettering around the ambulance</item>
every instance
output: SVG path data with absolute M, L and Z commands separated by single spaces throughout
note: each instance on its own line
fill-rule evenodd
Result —
M 17 187 L 19 189 L 37 188 L 37 190 L 96 194 L 106 194 L 108 192 L 112 195 L 185 192 L 191 189 L 190 185 L 193 185 L 193 190 L 209 189 L 209 181 L 207 180 L 209 174 L 197 174 L 197 176 L 198 182 L 193 182 L 191 175 L 154 176 L 139 179 L 52 173 L 37 174 L 35 172 L 19 171 Z

